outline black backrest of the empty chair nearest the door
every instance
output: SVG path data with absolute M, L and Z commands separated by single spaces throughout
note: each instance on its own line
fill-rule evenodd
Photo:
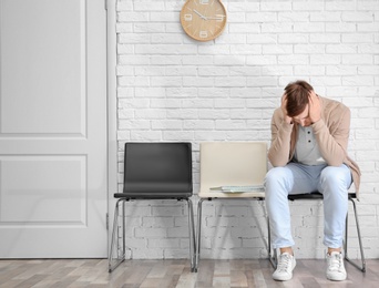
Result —
M 139 197 L 190 197 L 191 143 L 125 143 L 124 194 Z

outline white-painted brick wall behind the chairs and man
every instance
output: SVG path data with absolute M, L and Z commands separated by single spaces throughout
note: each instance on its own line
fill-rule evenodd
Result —
M 358 212 L 365 253 L 379 258 L 379 1 L 223 0 L 227 27 L 206 43 L 182 31 L 184 2 L 117 0 L 120 191 L 124 142 L 190 141 L 196 194 L 198 143 L 269 143 L 270 117 L 284 86 L 304 79 L 351 109 L 349 154 L 362 171 Z M 187 257 L 184 204 L 127 207 L 132 257 Z M 297 257 L 322 258 L 322 205 L 290 208 Z M 263 204 L 204 203 L 203 216 L 203 257 L 266 256 Z

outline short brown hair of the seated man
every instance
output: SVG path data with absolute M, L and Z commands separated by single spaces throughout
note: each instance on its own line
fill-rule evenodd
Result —
M 295 117 L 306 109 L 309 103 L 310 92 L 314 88 L 306 81 L 298 80 L 296 82 L 289 83 L 286 88 L 287 95 L 287 114 L 290 117 Z

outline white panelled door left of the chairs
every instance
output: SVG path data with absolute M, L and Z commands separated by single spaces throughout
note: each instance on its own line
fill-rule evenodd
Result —
M 104 0 L 0 0 L 0 258 L 106 256 Z

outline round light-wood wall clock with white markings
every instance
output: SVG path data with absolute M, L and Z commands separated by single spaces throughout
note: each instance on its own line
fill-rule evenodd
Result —
M 184 31 L 198 41 L 218 37 L 226 25 L 226 9 L 219 0 L 187 0 L 181 11 Z

